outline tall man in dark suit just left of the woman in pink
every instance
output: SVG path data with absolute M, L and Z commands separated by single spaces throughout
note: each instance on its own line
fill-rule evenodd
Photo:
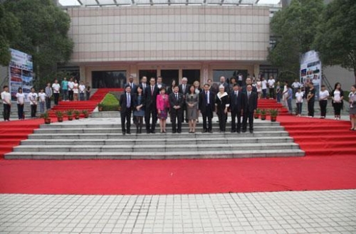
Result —
M 147 85 L 145 90 L 145 123 L 146 132 L 155 133 L 156 123 L 157 123 L 157 95 L 159 94 L 158 88 L 155 86 L 155 78 L 150 79 L 150 85 Z M 152 124 L 150 125 L 150 119 L 152 116 Z

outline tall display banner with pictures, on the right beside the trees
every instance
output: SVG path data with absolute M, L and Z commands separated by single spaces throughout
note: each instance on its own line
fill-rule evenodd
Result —
M 300 59 L 300 83 L 303 85 L 313 82 L 315 87 L 315 99 L 319 99 L 321 85 L 321 61 L 318 52 L 310 50 Z

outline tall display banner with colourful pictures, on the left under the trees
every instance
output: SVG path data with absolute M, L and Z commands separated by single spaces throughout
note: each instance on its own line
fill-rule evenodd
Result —
M 32 56 L 19 50 L 11 50 L 11 61 L 9 65 L 9 90 L 11 99 L 16 100 L 16 93 L 22 87 L 25 101 L 27 102 L 28 93 L 33 87 L 33 63 Z

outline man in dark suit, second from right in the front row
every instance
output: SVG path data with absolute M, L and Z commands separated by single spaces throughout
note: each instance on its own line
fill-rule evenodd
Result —
M 241 115 L 244 112 L 244 96 L 238 83 L 234 84 L 230 92 L 230 110 L 231 110 L 231 132 L 241 132 Z M 237 117 L 237 125 L 236 125 Z

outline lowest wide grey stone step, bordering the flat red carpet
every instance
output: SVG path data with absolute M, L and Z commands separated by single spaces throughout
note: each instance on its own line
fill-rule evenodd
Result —
M 232 159 L 252 157 L 304 156 L 300 149 L 219 150 L 170 152 L 11 152 L 5 159 Z

